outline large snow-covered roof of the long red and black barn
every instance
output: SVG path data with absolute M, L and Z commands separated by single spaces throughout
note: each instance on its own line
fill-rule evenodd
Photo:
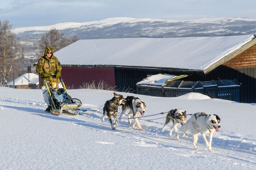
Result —
M 62 65 L 200 70 L 250 42 L 253 35 L 79 40 L 54 53 Z

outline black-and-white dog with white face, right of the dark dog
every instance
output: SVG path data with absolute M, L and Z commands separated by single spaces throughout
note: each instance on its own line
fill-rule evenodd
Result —
M 133 117 L 139 117 L 140 114 L 143 116 L 145 113 L 145 108 L 146 105 L 143 101 L 141 101 L 139 98 L 134 97 L 134 96 L 127 96 L 126 98 L 126 102 L 125 104 L 122 105 L 122 113 L 119 117 L 119 120 L 122 119 L 123 114 L 126 112 L 127 109 L 130 109 L 129 113 L 128 113 L 128 122 L 129 124 L 131 124 L 131 114 L 133 114 Z M 132 127 L 135 126 L 135 124 L 138 125 L 138 127 L 140 128 L 140 130 L 143 130 L 138 118 L 134 119 L 134 123 L 132 124 Z

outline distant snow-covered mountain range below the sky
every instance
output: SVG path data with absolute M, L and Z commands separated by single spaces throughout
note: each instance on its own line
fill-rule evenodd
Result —
M 66 37 L 77 35 L 81 39 L 255 35 L 256 19 L 232 17 L 175 21 L 108 18 L 83 23 L 66 22 L 42 27 L 16 28 L 14 33 L 18 37 L 40 38 L 52 28 L 65 33 Z

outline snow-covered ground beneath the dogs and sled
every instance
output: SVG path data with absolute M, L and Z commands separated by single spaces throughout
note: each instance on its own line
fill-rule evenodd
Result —
M 139 120 L 143 131 L 132 128 L 126 116 L 112 130 L 107 117 L 101 121 L 101 109 L 113 91 L 68 92 L 82 101 L 83 110 L 90 111 L 52 115 L 44 111 L 41 90 L 0 87 L 0 169 L 256 169 L 255 103 L 210 99 L 198 93 L 175 98 L 117 93 L 144 101 L 144 116 L 157 115 Z M 169 137 L 171 124 L 161 131 L 166 112 L 176 108 L 220 117 L 213 152 L 208 152 L 200 134 L 200 150 L 194 150 L 191 134 L 178 130 L 181 140 L 174 132 Z

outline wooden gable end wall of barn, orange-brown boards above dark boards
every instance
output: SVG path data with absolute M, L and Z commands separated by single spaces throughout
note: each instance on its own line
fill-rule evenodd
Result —
M 236 79 L 242 83 L 241 102 L 256 103 L 256 45 L 206 74 L 206 80 Z

